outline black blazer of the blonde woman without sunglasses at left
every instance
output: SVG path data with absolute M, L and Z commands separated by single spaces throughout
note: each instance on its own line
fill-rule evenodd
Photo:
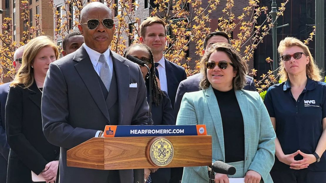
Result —
M 34 81 L 29 88 L 10 87 L 6 104 L 6 134 L 10 146 L 7 183 L 31 182 L 48 162 L 58 160 L 59 147 L 42 131 L 41 97 Z

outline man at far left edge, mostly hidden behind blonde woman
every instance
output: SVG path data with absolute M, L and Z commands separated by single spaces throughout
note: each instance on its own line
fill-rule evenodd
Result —
M 24 52 L 24 46 L 19 47 L 14 54 L 13 65 L 16 72 L 22 64 L 22 54 Z M 8 91 L 10 83 L 5 83 L 0 86 L 0 182 L 7 181 L 7 166 L 9 156 L 9 145 L 6 139 L 6 125 L 5 125 L 5 106 L 7 102 Z

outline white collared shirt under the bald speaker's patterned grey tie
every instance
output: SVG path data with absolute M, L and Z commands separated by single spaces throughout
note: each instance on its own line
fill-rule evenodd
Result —
M 106 62 L 110 66 L 111 73 L 113 73 L 113 62 L 112 62 L 112 58 L 111 58 L 111 54 L 110 54 L 110 49 L 107 49 L 104 53 L 99 53 L 99 52 L 89 48 L 85 43 L 83 43 L 82 45 L 84 46 L 89 58 L 91 59 L 94 70 L 96 71 L 98 76 L 100 75 L 101 66 L 103 64 L 102 62 L 98 61 L 101 54 L 103 54 L 105 56 Z

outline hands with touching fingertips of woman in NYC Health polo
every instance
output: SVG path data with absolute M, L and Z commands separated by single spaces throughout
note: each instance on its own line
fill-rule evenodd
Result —
M 298 161 L 294 160 L 294 157 L 298 154 L 304 157 L 304 159 Z M 282 157 L 279 158 L 279 161 L 287 165 L 290 165 L 291 169 L 300 170 L 300 169 L 308 168 L 309 164 L 316 162 L 317 159 L 313 154 L 305 154 L 300 150 L 297 150 L 292 154 L 283 155 Z

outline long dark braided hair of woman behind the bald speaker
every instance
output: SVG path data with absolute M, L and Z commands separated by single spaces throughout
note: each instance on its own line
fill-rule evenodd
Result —
M 152 64 L 152 67 L 150 68 L 151 78 L 152 78 L 152 99 L 153 99 L 153 102 L 155 103 L 155 105 L 158 106 L 162 102 L 164 93 L 157 86 L 157 81 L 156 81 L 156 76 L 155 76 L 154 57 L 153 57 L 152 50 L 148 46 L 146 46 L 144 44 L 135 43 L 135 44 L 130 45 L 126 49 L 125 54 L 124 54 L 124 57 L 126 57 L 129 54 L 130 50 L 132 50 L 132 49 L 141 49 L 141 50 L 144 50 L 149 55 L 149 59 L 151 60 L 151 63 L 146 63 L 146 64 L 147 65 L 148 64 Z M 147 73 L 147 75 L 148 75 L 148 73 Z M 145 79 L 146 86 L 148 86 L 147 85 L 148 82 L 149 82 L 148 81 L 148 77 L 146 76 L 146 79 Z

